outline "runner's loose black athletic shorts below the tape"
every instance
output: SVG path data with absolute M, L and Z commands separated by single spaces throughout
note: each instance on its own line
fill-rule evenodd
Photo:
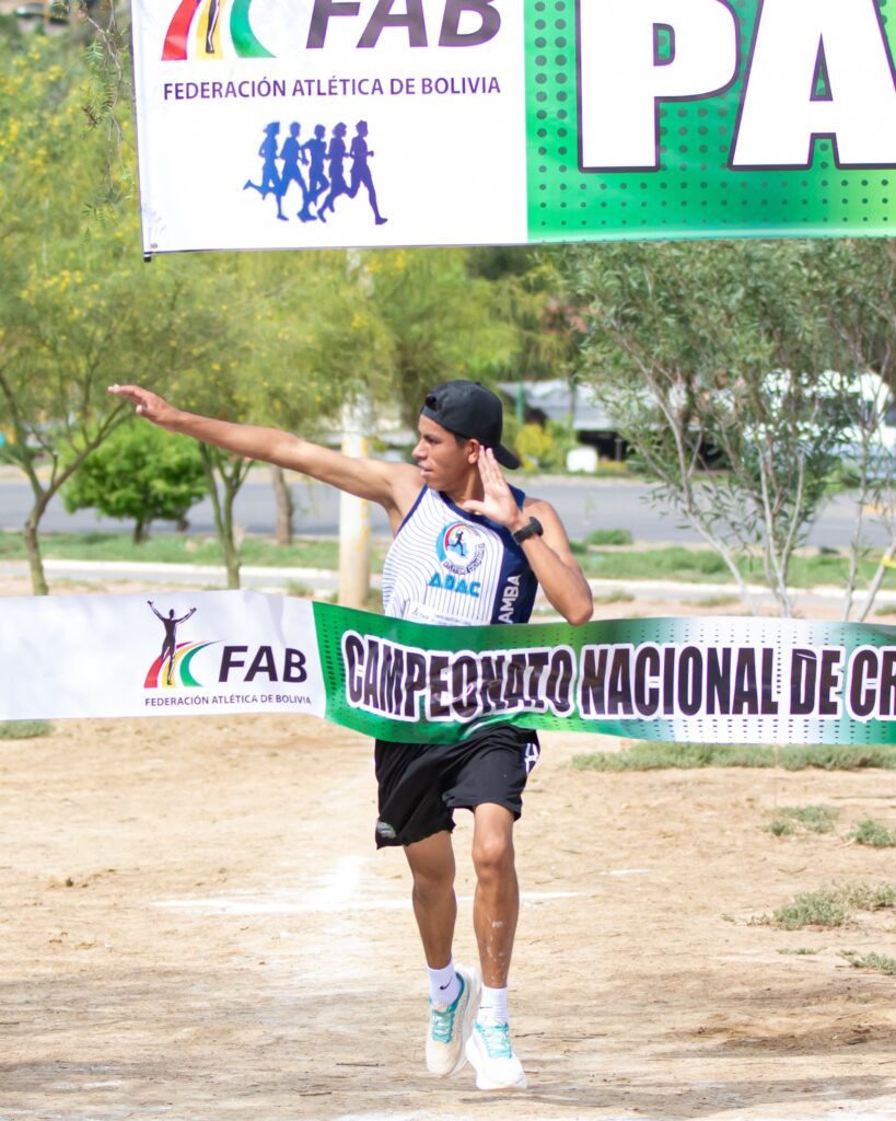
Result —
M 486 802 L 517 818 L 539 751 L 535 732 L 513 724 L 484 729 L 459 743 L 377 740 L 376 847 L 413 844 L 442 830 L 450 833 L 452 810 Z

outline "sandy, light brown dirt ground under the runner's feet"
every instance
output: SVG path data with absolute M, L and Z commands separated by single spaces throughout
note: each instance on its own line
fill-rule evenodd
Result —
M 612 612 L 663 613 L 641 608 Z M 607 775 L 570 760 L 615 741 L 542 743 L 511 979 L 530 1088 L 508 1100 L 423 1068 L 423 963 L 403 858 L 373 847 L 370 741 L 286 716 L 0 741 L 0 1119 L 896 1117 L 896 979 L 841 956 L 896 956 L 896 912 L 749 921 L 896 880 L 893 850 L 847 839 L 896 824 L 896 772 Z M 805 805 L 839 809 L 836 833 L 768 832 Z M 461 814 L 463 962 L 470 837 Z

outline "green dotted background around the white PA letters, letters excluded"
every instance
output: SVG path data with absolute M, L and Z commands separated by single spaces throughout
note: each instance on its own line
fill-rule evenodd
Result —
M 838 168 L 829 139 L 806 170 L 728 166 L 759 0 L 729 0 L 740 39 L 730 89 L 661 102 L 660 169 L 615 173 L 579 170 L 577 0 L 525 3 L 530 241 L 896 232 L 896 168 Z M 877 6 L 893 58 L 896 0 Z M 659 57 L 669 49 L 657 29 Z

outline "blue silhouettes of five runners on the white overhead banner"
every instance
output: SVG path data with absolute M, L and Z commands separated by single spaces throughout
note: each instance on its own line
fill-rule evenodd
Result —
M 302 142 L 299 139 L 301 124 L 293 121 L 289 126 L 289 136 L 281 146 L 277 139 L 280 135 L 279 121 L 271 121 L 262 131 L 264 139 L 258 150 L 262 160 L 261 175 L 258 183 L 246 179 L 243 191 L 256 191 L 262 198 L 273 195 L 279 221 L 289 221 L 289 216 L 283 213 L 283 198 L 293 183 L 298 184 L 301 193 L 301 209 L 296 211 L 296 217 L 302 222 L 326 224 L 328 213 L 336 216 L 336 200 L 343 196 L 354 200 L 362 187 L 366 191 L 374 223 L 385 225 L 389 221 L 380 213 L 376 188 L 373 185 L 370 160 L 374 152 L 367 146 L 366 121 L 358 121 L 355 126 L 351 146 L 345 142 L 348 129 L 344 121 L 334 124 L 329 142 L 325 139 L 327 130 L 324 124 L 315 124 L 314 135 Z M 348 182 L 345 174 L 346 159 L 352 160 Z M 282 167 L 278 167 L 278 160 Z M 302 167 L 308 168 L 307 180 Z M 314 211 L 311 207 L 315 207 Z

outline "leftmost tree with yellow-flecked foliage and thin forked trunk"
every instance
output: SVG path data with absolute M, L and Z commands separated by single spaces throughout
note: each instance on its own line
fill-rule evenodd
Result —
M 24 527 L 36 592 L 46 593 L 38 526 L 50 500 L 124 413 L 100 402 L 95 385 L 106 340 L 100 330 L 90 353 L 73 354 L 93 278 L 74 265 L 73 222 L 64 194 L 84 186 L 93 152 L 83 145 L 74 83 L 58 50 L 35 38 L 27 49 L 0 43 L 0 402 L 11 433 L 4 457 L 26 473 L 34 502 Z M 71 163 L 69 163 L 71 161 Z M 57 168 L 69 165 L 71 179 Z M 62 210 L 60 210 L 62 207 Z M 85 279 L 87 280 L 85 285 Z M 82 340 L 86 341 L 86 340 Z M 63 353 L 54 368 L 53 354 Z M 82 361 L 83 358 L 83 361 Z M 60 445 L 78 444 L 65 466 Z M 38 467 L 48 467 L 39 471 Z

